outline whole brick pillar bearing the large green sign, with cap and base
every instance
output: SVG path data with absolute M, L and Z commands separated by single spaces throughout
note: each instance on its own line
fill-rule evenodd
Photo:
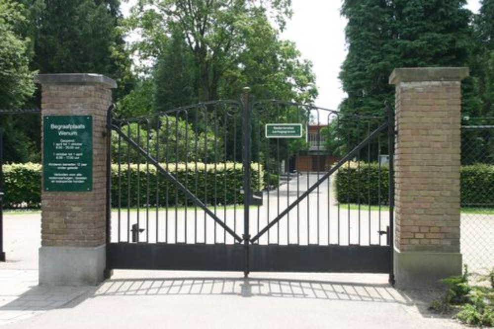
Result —
M 106 266 L 106 115 L 111 104 L 111 89 L 117 85 L 106 76 L 87 73 L 40 74 L 35 81 L 41 84 L 42 92 L 40 284 L 96 285 L 103 280 Z M 82 122 L 84 128 L 57 126 L 67 122 Z M 66 135 L 60 137 L 57 129 Z M 81 147 L 85 145 L 74 144 L 76 149 L 81 148 L 75 152 L 72 146 L 64 148 L 70 143 L 78 143 L 77 140 L 70 142 L 72 134 L 82 136 L 83 131 L 89 137 L 82 144 L 92 144 L 85 151 L 85 160 L 79 159 L 84 152 Z M 69 141 L 69 144 L 60 144 L 61 152 L 68 154 L 53 160 L 58 150 L 51 147 L 66 142 L 57 138 Z M 55 175 L 60 176 L 60 173 L 78 175 L 77 172 L 83 169 L 77 167 L 81 165 L 76 162 L 84 161 L 87 172 L 82 174 L 85 176 L 83 184 L 74 178 L 65 178 L 70 180 L 68 183 L 56 178 Z M 59 166 L 54 162 L 60 162 Z M 64 162 L 74 162 L 74 168 L 70 169 Z

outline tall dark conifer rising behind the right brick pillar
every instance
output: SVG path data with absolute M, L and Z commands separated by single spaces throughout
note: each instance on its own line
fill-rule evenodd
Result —
M 470 46 L 466 0 L 345 0 L 348 55 L 342 112 L 384 114 L 398 67 L 464 66 Z

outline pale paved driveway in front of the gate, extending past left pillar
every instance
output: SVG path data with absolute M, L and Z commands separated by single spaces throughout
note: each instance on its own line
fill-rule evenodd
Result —
M 5 218 L 0 328 L 460 328 L 386 275 L 115 271 L 99 287 L 40 287 L 40 216 Z

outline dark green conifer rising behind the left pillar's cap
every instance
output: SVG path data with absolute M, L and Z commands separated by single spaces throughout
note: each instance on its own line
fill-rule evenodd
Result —
M 118 28 L 120 0 L 44 0 L 44 5 L 33 22 L 34 67 L 40 73 L 105 74 L 117 80 L 121 95 L 128 92 L 132 75 Z

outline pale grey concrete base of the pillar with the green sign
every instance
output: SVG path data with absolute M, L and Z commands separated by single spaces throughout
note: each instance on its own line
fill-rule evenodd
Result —
M 40 285 L 96 286 L 104 280 L 105 245 L 88 247 L 41 247 Z

